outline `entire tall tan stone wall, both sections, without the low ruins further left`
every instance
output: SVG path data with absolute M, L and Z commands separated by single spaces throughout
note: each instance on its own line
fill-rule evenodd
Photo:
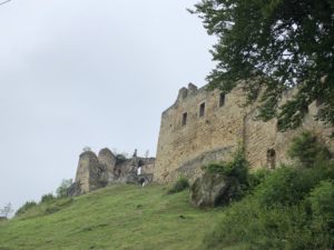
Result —
M 313 119 L 315 103 L 308 107 L 303 128 L 282 133 L 275 119 L 256 120 L 257 103 L 245 106 L 245 97 L 240 86 L 226 96 L 219 90 L 207 91 L 206 87 L 197 89 L 191 83 L 181 88 L 176 102 L 161 116 L 155 181 L 170 182 L 180 174 L 194 180 L 202 174 L 203 164 L 229 160 L 239 146 L 245 148 L 252 168 L 275 168 L 288 162 L 287 146 L 303 129 L 314 131 L 334 149 L 327 137 L 333 128 Z

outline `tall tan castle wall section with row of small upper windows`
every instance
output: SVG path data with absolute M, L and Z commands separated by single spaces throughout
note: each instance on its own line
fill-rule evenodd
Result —
M 175 104 L 161 116 L 155 180 L 174 180 L 180 167 L 189 161 L 200 166 L 202 160 L 196 159 L 208 152 L 223 149 L 215 154 L 215 160 L 228 160 L 230 152 L 243 142 L 244 117 L 250 109 L 245 107 L 240 88 L 225 97 L 218 90 L 206 91 L 205 87 L 197 90 L 191 83 L 188 89 L 180 89 Z M 196 176 L 200 174 L 198 167 L 191 168 L 196 169 L 191 170 Z

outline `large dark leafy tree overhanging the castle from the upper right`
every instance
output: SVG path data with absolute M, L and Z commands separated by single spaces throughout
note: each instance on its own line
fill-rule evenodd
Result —
M 333 0 L 202 0 L 189 11 L 218 38 L 210 89 L 229 92 L 243 80 L 248 100 L 259 98 L 259 117 L 278 118 L 282 131 L 297 128 L 314 100 L 322 103 L 316 118 L 334 124 Z

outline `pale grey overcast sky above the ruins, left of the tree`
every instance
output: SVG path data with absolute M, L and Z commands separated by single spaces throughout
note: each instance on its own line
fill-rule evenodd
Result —
M 0 6 L 0 207 L 75 178 L 86 146 L 155 157 L 161 112 L 214 68 L 196 2 Z

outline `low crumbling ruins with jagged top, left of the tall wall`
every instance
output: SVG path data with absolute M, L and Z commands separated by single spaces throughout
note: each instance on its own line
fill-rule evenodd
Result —
M 96 156 L 85 151 L 79 157 L 75 183 L 69 196 L 81 196 L 112 183 L 140 183 L 153 181 L 155 158 L 137 157 L 127 159 L 115 156 L 109 149 L 101 149 Z

